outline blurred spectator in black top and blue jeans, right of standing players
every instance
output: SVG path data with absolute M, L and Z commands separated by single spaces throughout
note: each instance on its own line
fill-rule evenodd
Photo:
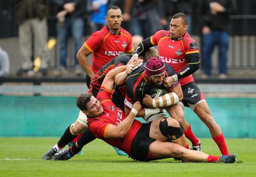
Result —
M 230 14 L 236 13 L 236 0 L 200 0 L 199 21 L 202 26 L 202 57 L 204 74 L 211 76 L 211 56 L 214 46 L 218 46 L 219 78 L 227 78 L 227 51 L 230 30 Z

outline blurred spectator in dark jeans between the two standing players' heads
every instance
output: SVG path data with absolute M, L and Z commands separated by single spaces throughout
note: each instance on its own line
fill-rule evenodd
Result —
M 123 18 L 124 21 L 131 20 L 129 31 L 132 35 L 140 35 L 145 39 L 161 28 L 157 3 L 157 0 L 125 0 Z

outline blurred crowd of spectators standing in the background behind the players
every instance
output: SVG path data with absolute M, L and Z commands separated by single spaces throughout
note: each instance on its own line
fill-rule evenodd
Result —
M 77 61 L 76 53 L 86 38 L 106 25 L 105 16 L 108 6 L 116 5 L 123 13 L 122 27 L 132 36 L 139 35 L 143 39 L 161 29 L 169 30 L 172 15 L 177 12 L 185 13 L 189 18 L 187 30 L 189 34 L 202 36 L 200 48 L 204 72 L 202 78 L 211 77 L 211 55 L 215 45 L 221 48 L 218 50 L 220 68 L 218 76 L 227 78 L 230 15 L 237 14 L 241 8 L 236 0 L 13 0 L 12 2 L 13 7 L 10 8 L 10 2 L 0 1 L 3 10 L 15 11 L 18 17 L 14 19 L 19 25 L 20 43 L 21 64 L 16 72 L 17 76 L 29 76 L 31 71 L 32 74 L 37 72 L 35 64 L 38 60 L 36 59 L 40 60 L 38 73 L 42 73 L 43 76 L 51 73 L 53 76 L 61 76 L 70 70 L 74 71 L 76 76 L 84 74 Z M 254 0 L 250 2 L 253 3 Z M 217 4 L 215 8 L 214 3 Z M 205 26 L 208 27 L 208 31 Z M 50 73 L 49 62 L 52 59 L 49 58 L 47 39 L 52 36 L 57 39 L 58 63 Z M 67 61 L 70 38 L 74 45 L 71 64 Z

